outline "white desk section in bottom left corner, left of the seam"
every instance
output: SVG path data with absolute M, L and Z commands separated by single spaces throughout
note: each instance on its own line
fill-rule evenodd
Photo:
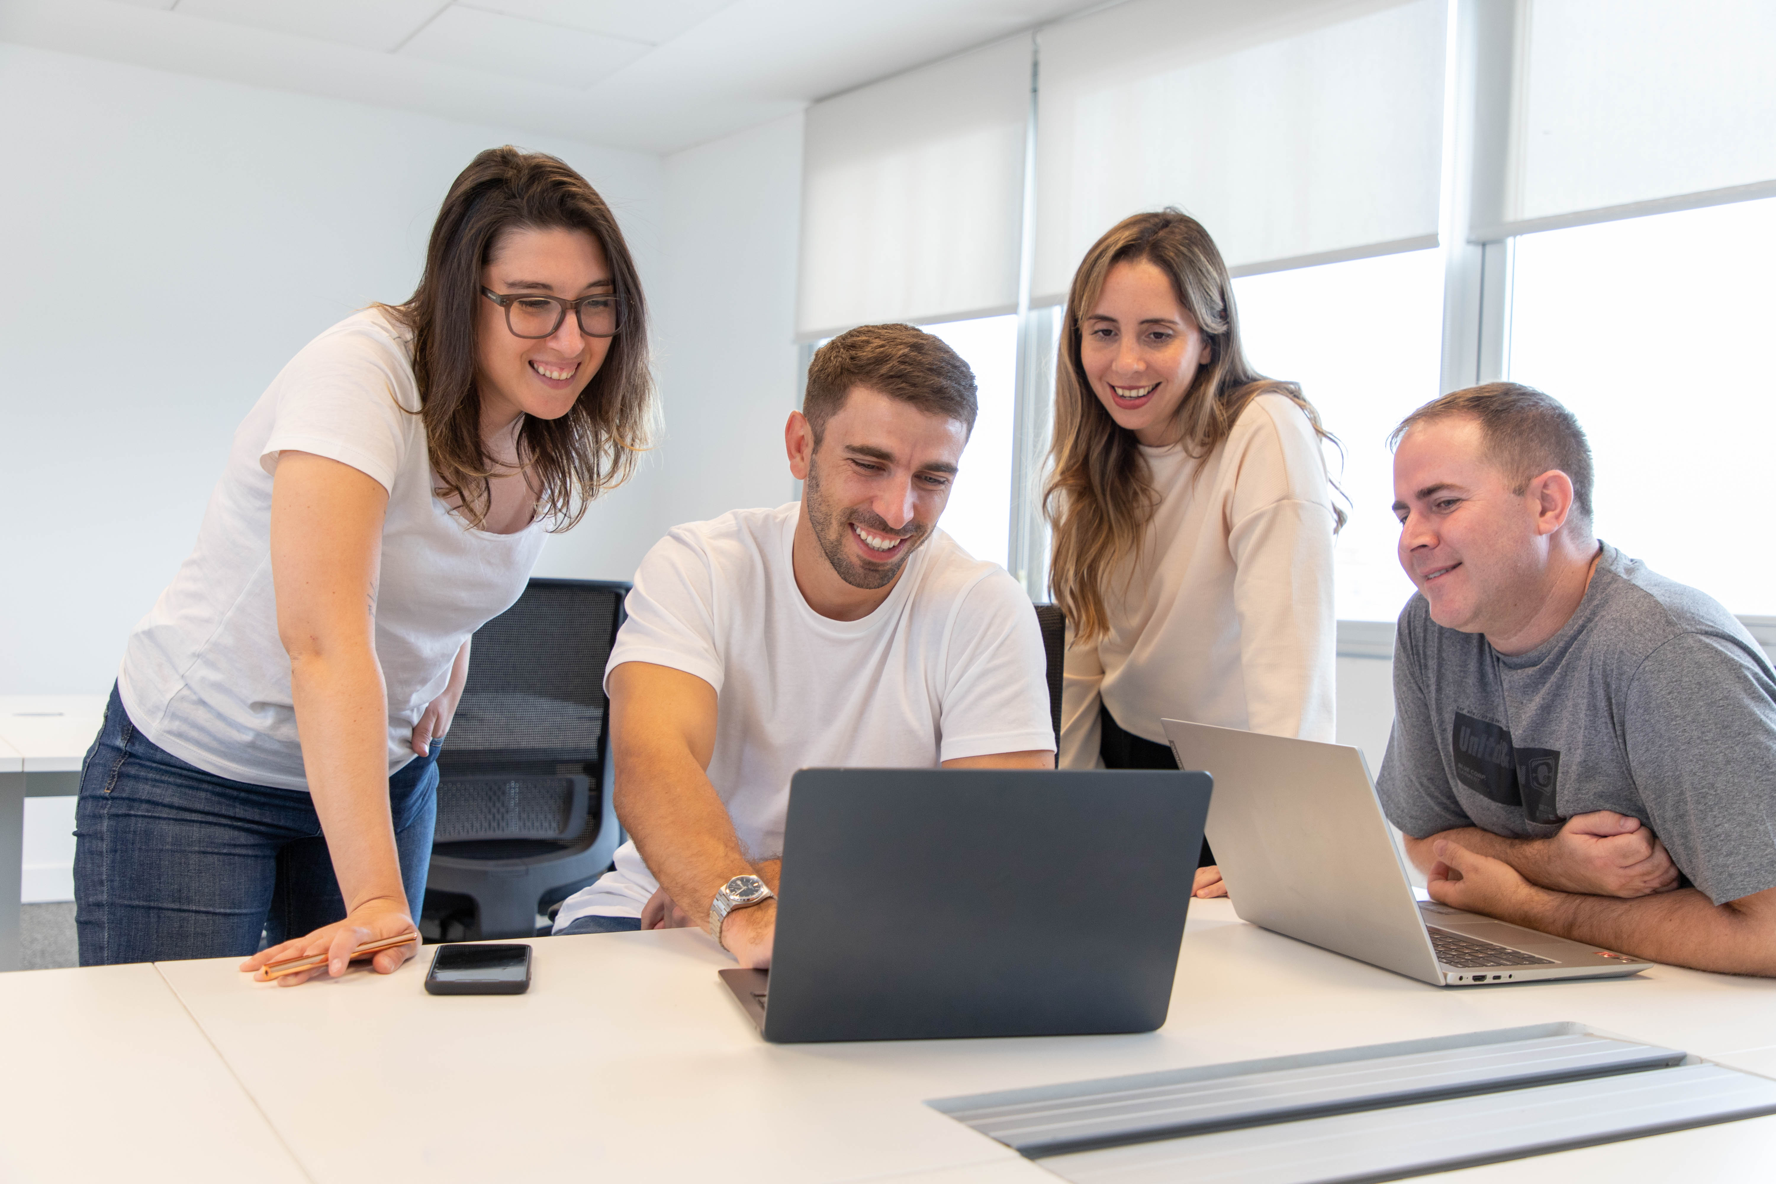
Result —
M 149 964 L 0 975 L 0 1180 L 302 1180 Z

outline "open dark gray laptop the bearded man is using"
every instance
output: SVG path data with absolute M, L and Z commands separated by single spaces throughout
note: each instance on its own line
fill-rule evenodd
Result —
M 1201 772 L 803 769 L 765 1040 L 1153 1031 L 1202 845 Z

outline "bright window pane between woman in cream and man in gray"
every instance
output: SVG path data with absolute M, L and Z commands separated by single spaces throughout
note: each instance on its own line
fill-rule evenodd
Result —
M 1327 470 L 1348 499 L 1337 538 L 1337 618 L 1392 621 L 1412 596 L 1394 543 L 1394 460 L 1387 433 L 1437 398 L 1442 252 L 1412 250 L 1234 280 L 1240 335 L 1259 373 L 1302 385 L 1327 446 Z

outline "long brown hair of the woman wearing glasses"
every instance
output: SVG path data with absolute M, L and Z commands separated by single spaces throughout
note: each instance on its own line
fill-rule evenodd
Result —
M 456 499 L 471 525 L 480 527 L 497 467 L 481 442 L 476 312 L 481 268 L 501 236 L 515 229 L 591 234 L 604 249 L 622 309 L 622 330 L 574 408 L 559 419 L 524 415 L 519 428 L 519 462 L 540 488 L 536 515 L 551 518 L 551 529 L 567 531 L 591 499 L 634 474 L 654 422 L 646 302 L 604 199 L 554 156 L 490 147 L 449 186 L 412 300 L 384 307 L 414 334 L 419 415 L 437 492 Z

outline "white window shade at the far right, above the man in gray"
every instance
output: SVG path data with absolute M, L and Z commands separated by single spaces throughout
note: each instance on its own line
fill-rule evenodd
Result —
M 1776 4 L 1522 0 L 1517 21 L 1504 222 L 1476 238 L 1776 193 Z

